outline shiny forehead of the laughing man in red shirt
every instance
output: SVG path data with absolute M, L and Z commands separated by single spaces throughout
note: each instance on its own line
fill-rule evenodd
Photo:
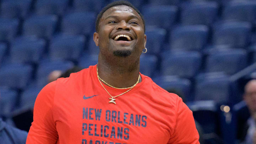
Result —
M 135 11 L 132 7 L 126 6 L 126 5 L 118 5 L 110 7 L 108 10 L 106 10 L 100 21 L 105 20 L 108 16 L 115 15 L 115 16 L 123 16 L 123 14 L 126 13 L 128 15 L 135 15 L 139 18 L 139 20 L 142 21 L 140 15 L 137 11 Z

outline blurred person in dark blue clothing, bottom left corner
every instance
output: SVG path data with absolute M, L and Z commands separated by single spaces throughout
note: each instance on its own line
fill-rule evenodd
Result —
M 27 132 L 10 126 L 0 118 L 0 144 L 25 144 Z

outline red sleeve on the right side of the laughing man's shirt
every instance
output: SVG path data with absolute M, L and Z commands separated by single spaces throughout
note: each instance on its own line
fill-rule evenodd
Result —
M 196 129 L 192 111 L 177 97 L 176 124 L 174 133 L 168 144 L 199 144 L 199 134 Z

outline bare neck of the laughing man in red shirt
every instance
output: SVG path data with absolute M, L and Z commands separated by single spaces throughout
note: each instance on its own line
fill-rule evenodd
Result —
M 99 54 L 97 67 L 100 78 L 114 87 L 130 87 L 138 81 L 139 59 L 114 57 L 110 60 Z

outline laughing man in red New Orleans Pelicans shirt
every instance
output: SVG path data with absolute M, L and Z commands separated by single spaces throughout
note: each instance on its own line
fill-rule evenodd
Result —
M 139 73 L 144 32 L 130 3 L 103 8 L 94 33 L 98 64 L 42 89 L 27 144 L 198 144 L 181 98 Z

